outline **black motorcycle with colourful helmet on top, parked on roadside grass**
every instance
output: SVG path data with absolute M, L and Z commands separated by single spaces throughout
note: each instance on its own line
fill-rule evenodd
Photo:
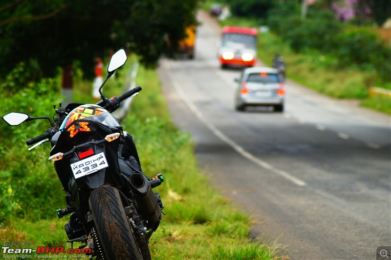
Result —
M 82 242 L 79 249 L 97 259 L 151 259 L 148 241 L 163 209 L 159 194 L 152 191 L 163 176 L 146 177 L 132 137 L 110 114 L 141 87 L 109 99 L 102 94 L 103 85 L 126 60 L 124 49 L 111 57 L 97 104 L 54 107 L 53 120 L 17 112 L 3 116 L 11 126 L 49 120 L 51 127 L 26 143 L 35 144 L 29 150 L 51 143 L 49 160 L 66 193 L 66 208 L 57 210 L 57 215 L 70 214 L 65 224 L 67 242 L 72 247 L 73 242 Z

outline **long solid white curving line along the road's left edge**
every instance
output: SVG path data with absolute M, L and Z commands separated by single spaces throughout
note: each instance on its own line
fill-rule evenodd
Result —
M 167 61 L 163 61 L 163 66 L 165 66 L 166 68 L 170 68 L 170 65 L 168 64 Z M 197 109 L 195 104 L 185 95 L 185 93 L 183 92 L 183 90 L 181 89 L 179 84 L 176 82 L 176 80 L 171 77 L 171 81 L 173 83 L 175 91 L 182 98 L 182 100 L 186 103 L 186 105 L 190 108 L 190 110 L 192 110 L 193 113 L 195 114 L 195 116 L 201 122 L 203 122 L 205 124 L 205 126 L 207 128 L 209 128 L 209 130 L 211 130 L 212 133 L 214 135 L 216 135 L 221 141 L 227 143 L 235 151 L 237 151 L 241 156 L 243 156 L 244 158 L 247 158 L 248 160 L 252 161 L 253 163 L 261 166 L 262 168 L 268 169 L 268 170 L 270 170 L 270 171 L 272 171 L 274 173 L 279 174 L 280 176 L 282 176 L 285 179 L 291 181 L 292 183 L 296 184 L 297 186 L 301 186 L 301 187 L 307 186 L 307 184 L 304 181 L 300 180 L 299 178 L 296 178 L 296 177 L 292 176 L 291 174 L 289 174 L 286 171 L 278 169 L 278 168 L 274 167 L 273 165 L 270 165 L 270 164 L 266 163 L 265 161 L 255 157 L 254 155 L 252 155 L 251 153 L 246 151 L 243 147 L 241 147 L 239 144 L 234 142 L 232 139 L 230 139 L 229 137 L 224 135 L 213 124 L 211 124 L 208 120 L 206 120 L 206 118 L 204 118 L 204 116 L 201 114 L 201 112 L 199 112 L 199 110 Z

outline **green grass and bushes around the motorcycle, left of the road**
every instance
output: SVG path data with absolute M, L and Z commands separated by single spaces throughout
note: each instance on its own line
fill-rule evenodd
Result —
M 134 61 L 134 60 L 133 60 Z M 132 60 L 117 71 L 103 89 L 119 95 Z M 56 79 L 31 84 L 5 96 L 6 86 L 16 84 L 23 66 L 0 86 L 3 114 L 20 111 L 32 116 L 52 115 L 52 105 L 61 100 Z M 21 73 L 21 74 L 19 74 Z M 92 102 L 92 82 L 76 72 L 74 101 Z M 13 82 L 14 81 L 14 82 Z M 278 259 L 276 243 L 264 245 L 249 236 L 251 217 L 211 188 L 200 172 L 190 135 L 171 122 L 166 101 L 154 70 L 139 68 L 136 83 L 143 87 L 134 97 L 131 111 L 122 119 L 138 147 L 148 176 L 161 172 L 165 182 L 156 188 L 165 209 L 162 222 L 150 241 L 153 259 Z M 15 89 L 15 88 L 14 88 Z M 2 121 L 2 120 L 1 120 Z M 27 151 L 25 141 L 42 133 L 47 120 L 25 122 L 22 127 L 0 123 L 0 242 L 22 241 L 37 246 L 64 246 L 64 224 L 55 210 L 65 207 L 64 192 L 51 162 L 49 144 Z M 79 245 L 74 245 L 79 246 Z M 0 257 L 3 257 L 0 252 Z

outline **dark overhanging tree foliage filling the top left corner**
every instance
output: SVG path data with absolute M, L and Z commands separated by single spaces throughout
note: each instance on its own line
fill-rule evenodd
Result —
M 43 76 L 79 61 L 93 77 L 94 58 L 129 46 L 147 67 L 170 55 L 195 24 L 196 0 L 0 0 L 0 77 L 21 61 Z M 170 35 L 170 43 L 167 39 Z

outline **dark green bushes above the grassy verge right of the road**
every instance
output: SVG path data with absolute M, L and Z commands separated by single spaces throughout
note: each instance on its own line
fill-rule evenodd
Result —
M 299 5 L 292 2 L 273 8 L 268 24 L 296 52 L 316 49 L 334 56 L 338 69 L 377 71 L 382 83 L 391 80 L 390 47 L 371 28 L 349 28 L 337 21 L 332 12 L 316 8 L 309 8 L 303 20 Z

